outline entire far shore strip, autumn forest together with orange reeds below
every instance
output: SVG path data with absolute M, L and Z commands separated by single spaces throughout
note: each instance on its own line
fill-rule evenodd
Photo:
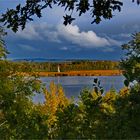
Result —
M 71 62 L 13 62 L 0 61 L 16 69 L 16 73 L 22 75 L 37 74 L 39 76 L 113 76 L 121 75 L 119 62 L 117 61 L 71 61 Z M 5 71 L 3 71 L 5 72 Z M 6 72 L 5 72 L 6 73 Z M 11 73 L 12 74 L 12 73 Z

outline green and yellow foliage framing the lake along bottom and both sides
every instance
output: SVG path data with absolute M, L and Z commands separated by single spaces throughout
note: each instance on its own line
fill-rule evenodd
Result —
M 4 48 L 2 37 L 3 29 Z M 81 91 L 78 102 L 69 101 L 61 87 L 52 83 L 46 90 L 36 77 L 19 75 L 23 67 L 0 60 L 0 138 L 140 139 L 139 40 L 137 33 L 123 45 L 125 85 L 136 80 L 133 87 L 118 93 L 111 89 L 103 95 L 95 79 L 94 89 Z M 2 49 L 1 58 L 5 55 Z M 33 103 L 34 92 L 45 93 L 47 100 Z

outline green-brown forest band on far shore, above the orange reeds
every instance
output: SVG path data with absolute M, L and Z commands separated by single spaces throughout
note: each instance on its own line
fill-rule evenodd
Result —
M 119 70 L 118 61 L 64 61 L 64 62 L 13 62 L 16 67 L 22 68 L 22 71 L 32 69 L 34 72 L 58 72 L 58 67 L 61 72 L 69 71 L 92 71 L 92 70 Z

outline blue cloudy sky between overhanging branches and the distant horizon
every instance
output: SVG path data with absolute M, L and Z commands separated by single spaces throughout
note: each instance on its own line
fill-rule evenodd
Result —
M 0 0 L 0 14 L 7 8 L 24 5 L 25 0 Z M 123 57 L 121 45 L 140 31 L 140 5 L 123 0 L 121 12 L 114 12 L 111 20 L 91 24 L 89 13 L 78 17 L 68 26 L 63 25 L 64 9 L 45 9 L 42 18 L 34 17 L 26 28 L 17 33 L 6 30 L 8 59 L 96 59 L 120 60 Z M 68 12 L 67 12 L 68 13 Z

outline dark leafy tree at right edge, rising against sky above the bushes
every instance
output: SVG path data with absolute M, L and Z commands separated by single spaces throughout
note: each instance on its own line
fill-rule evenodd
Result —
M 126 53 L 121 61 L 121 67 L 125 70 L 126 86 L 129 86 L 130 82 L 140 83 L 140 33 L 133 34 L 132 37 L 131 41 L 122 45 Z

